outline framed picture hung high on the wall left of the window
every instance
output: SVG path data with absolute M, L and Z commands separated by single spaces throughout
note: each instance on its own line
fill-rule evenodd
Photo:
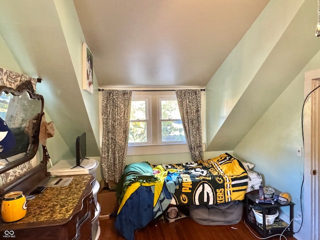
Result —
M 93 93 L 93 55 L 86 43 L 82 43 L 82 89 Z

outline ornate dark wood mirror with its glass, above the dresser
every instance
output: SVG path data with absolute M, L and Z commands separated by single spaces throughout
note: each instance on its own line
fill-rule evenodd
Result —
M 24 81 L 16 89 L 0 86 L 1 177 L 35 156 L 39 144 L 41 117 L 44 114 L 43 104 L 42 95 L 35 94 L 30 81 Z M 45 153 L 44 149 L 46 150 L 46 148 L 44 146 L 42 148 Z M 45 158 L 45 154 L 43 158 Z M 12 180 L 1 180 L 0 195 L 14 189 L 23 181 L 27 182 L 26 179 L 30 176 L 37 176 L 39 171 L 44 173 L 43 176 L 40 176 L 41 179 L 46 176 L 46 160 L 46 158 L 43 159 L 40 164 L 30 167 L 25 173 Z

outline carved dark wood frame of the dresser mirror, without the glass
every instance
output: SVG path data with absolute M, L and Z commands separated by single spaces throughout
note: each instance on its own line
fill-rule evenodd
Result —
M 28 160 L 31 160 L 39 146 L 39 131 L 40 131 L 40 123 L 41 123 L 41 118 L 42 115 L 44 114 L 43 112 L 43 107 L 44 107 L 44 99 L 43 96 L 40 94 L 36 94 L 32 83 L 30 80 L 26 80 L 22 82 L 16 89 L 13 89 L 8 86 L 0 85 L 0 92 L 5 92 L 5 93 L 11 93 L 14 96 L 20 96 L 24 92 L 27 92 L 29 94 L 29 97 L 32 99 L 38 99 L 41 101 L 41 108 L 38 114 L 38 118 L 36 119 L 38 122 L 38 125 L 36 127 L 36 135 L 34 136 L 34 141 L 33 141 L 33 147 L 32 151 L 29 152 L 29 154 L 18 158 L 5 166 L 3 166 L 0 169 L 0 174 L 4 173 Z M 4 195 L 10 190 L 22 190 L 24 193 L 28 194 L 32 188 L 34 187 L 35 184 L 41 184 L 41 182 L 44 182 L 48 179 L 49 177 L 49 172 L 47 172 L 47 162 L 48 162 L 48 154 L 47 154 L 47 149 L 46 146 L 42 146 L 42 160 L 40 163 L 33 168 L 31 168 L 29 171 L 21 174 L 20 176 L 14 178 L 13 180 L 7 182 L 6 184 L 0 186 L 0 196 Z

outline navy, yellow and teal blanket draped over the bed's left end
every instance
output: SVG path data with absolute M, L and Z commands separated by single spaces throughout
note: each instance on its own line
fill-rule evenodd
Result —
M 120 205 L 114 226 L 126 240 L 133 240 L 134 230 L 168 207 L 179 173 L 160 165 L 152 168 L 146 162 L 131 163 L 124 172 L 116 192 Z

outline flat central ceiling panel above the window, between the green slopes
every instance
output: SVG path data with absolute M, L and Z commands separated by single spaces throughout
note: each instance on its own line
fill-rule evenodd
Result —
M 103 86 L 205 86 L 269 0 L 73 0 Z

